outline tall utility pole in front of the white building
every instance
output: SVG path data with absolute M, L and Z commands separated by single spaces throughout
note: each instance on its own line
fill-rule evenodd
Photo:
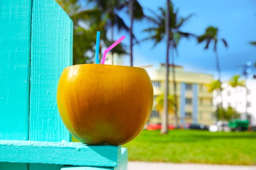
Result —
M 246 82 L 247 82 L 248 75 L 251 73 L 251 70 L 250 70 L 250 66 L 251 65 L 252 65 L 252 62 L 248 61 L 245 65 L 239 65 L 238 66 L 239 69 L 242 69 L 242 75 L 245 77 L 245 80 L 244 80 L 244 87 L 245 87 L 245 111 L 241 115 L 241 119 L 242 120 L 246 120 L 247 119 L 247 93 L 248 93 L 248 88 L 247 88 Z

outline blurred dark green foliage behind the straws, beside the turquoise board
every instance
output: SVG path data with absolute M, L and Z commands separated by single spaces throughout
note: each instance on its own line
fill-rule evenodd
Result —
M 107 29 L 102 25 L 101 11 L 97 8 L 83 11 L 83 6 L 77 0 L 56 0 L 73 20 L 73 64 L 95 62 L 96 30 L 101 31 L 100 54 L 102 46 L 109 46 L 111 42 L 106 34 Z M 126 54 L 123 44 L 117 45 L 113 53 Z

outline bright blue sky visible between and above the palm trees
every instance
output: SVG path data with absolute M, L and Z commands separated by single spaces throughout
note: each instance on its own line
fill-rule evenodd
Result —
M 143 8 L 157 11 L 160 6 L 165 6 L 166 0 L 139 0 Z M 203 34 L 208 26 L 219 28 L 219 38 L 227 40 L 229 48 L 223 44 L 218 45 L 222 80 L 229 79 L 234 74 L 240 74 L 237 69 L 247 61 L 256 61 L 256 47 L 248 42 L 256 41 L 256 0 L 173 0 L 179 8 L 180 16 L 186 17 L 191 13 L 196 16 L 187 22 L 182 30 L 193 34 Z M 145 10 L 145 14 L 151 13 Z M 127 14 L 121 13 L 122 18 L 129 25 Z M 147 21 L 135 21 L 134 33 L 138 40 L 148 36 L 142 30 L 148 28 Z M 122 35 L 123 40 L 129 43 L 129 35 L 124 32 L 115 34 L 115 39 Z M 166 56 L 166 43 L 162 42 L 157 47 L 151 48 L 153 42 L 147 41 L 134 46 L 134 65 L 145 65 L 152 62 L 164 62 Z M 198 45 L 195 40 L 183 39 L 178 47 L 179 56 L 177 65 L 182 65 L 186 71 L 209 73 L 216 76 L 215 56 L 212 47 L 204 50 L 204 45 Z M 129 57 L 125 57 L 125 65 L 129 65 Z M 256 71 L 254 71 L 256 73 Z

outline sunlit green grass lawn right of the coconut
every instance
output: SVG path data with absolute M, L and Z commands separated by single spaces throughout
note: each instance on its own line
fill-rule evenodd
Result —
M 205 164 L 256 164 L 256 133 L 210 133 L 204 130 L 143 130 L 128 144 L 130 161 Z

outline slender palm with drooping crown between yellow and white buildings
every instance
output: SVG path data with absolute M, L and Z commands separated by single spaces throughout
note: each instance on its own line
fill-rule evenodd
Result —
M 221 68 L 220 68 L 220 63 L 219 63 L 219 57 L 218 57 L 218 52 L 217 52 L 217 44 L 218 41 L 221 40 L 224 44 L 224 46 L 227 48 L 227 41 L 224 40 L 223 38 L 218 39 L 218 28 L 213 27 L 213 26 L 209 26 L 205 33 L 202 34 L 201 36 L 198 37 L 198 43 L 202 43 L 202 42 L 206 42 L 206 45 L 204 47 L 204 49 L 209 49 L 209 45 L 211 42 L 214 42 L 214 46 L 213 46 L 213 51 L 215 53 L 215 59 L 216 59 L 216 68 L 218 71 L 218 81 L 219 84 L 221 84 Z M 221 108 L 223 108 L 222 106 L 222 95 L 221 95 L 221 85 L 219 86 L 219 90 L 220 90 L 220 97 L 221 97 Z

